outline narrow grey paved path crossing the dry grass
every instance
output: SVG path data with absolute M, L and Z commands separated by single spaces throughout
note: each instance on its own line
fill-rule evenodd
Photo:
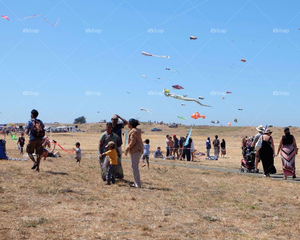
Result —
M 122 159 L 122 162 L 130 162 L 130 160 L 126 160 L 126 159 Z M 170 165 L 173 166 L 175 165 L 176 167 L 185 167 L 185 168 L 200 168 L 203 170 L 213 170 L 213 171 L 220 171 L 220 172 L 224 172 L 224 173 L 237 173 L 240 175 L 247 175 L 247 176 L 253 176 L 253 177 L 261 177 L 262 178 L 262 173 L 240 173 L 239 169 L 229 169 L 229 168 L 217 168 L 217 167 L 207 167 L 207 166 L 202 166 L 202 165 L 190 165 L 188 164 L 181 164 L 181 163 L 168 163 L 168 162 L 152 162 L 149 161 L 150 165 L 151 164 L 159 164 L 159 165 Z M 274 180 L 279 180 L 279 181 L 288 181 L 288 182 L 293 182 L 293 183 L 300 183 L 300 178 L 295 178 L 292 179 L 292 177 L 287 177 L 287 180 L 282 179 L 283 175 L 282 174 L 270 174 L 271 179 Z

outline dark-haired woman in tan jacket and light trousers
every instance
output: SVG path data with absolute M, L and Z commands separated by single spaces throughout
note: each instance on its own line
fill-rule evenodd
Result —
M 138 120 L 133 118 L 129 119 L 128 128 L 130 128 L 130 132 L 128 134 L 128 147 L 125 150 L 125 156 L 130 152 L 131 169 L 134 177 L 134 183 L 130 185 L 130 187 L 141 188 L 138 164 L 140 163 L 140 158 L 144 152 L 144 144 L 142 140 L 142 130 L 137 128 L 138 125 L 140 125 Z

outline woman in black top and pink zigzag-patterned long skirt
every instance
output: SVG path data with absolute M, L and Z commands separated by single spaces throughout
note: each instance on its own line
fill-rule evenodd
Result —
M 287 179 L 287 176 L 296 178 L 295 158 L 298 154 L 296 140 L 294 136 L 291 135 L 289 128 L 284 128 L 283 133 L 284 135 L 280 138 L 277 151 L 278 156 L 281 150 L 283 179 Z

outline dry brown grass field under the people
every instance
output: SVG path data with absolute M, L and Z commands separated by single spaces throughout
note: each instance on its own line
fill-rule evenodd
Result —
M 299 178 L 276 181 L 238 173 L 242 138 L 237 136 L 253 136 L 255 127 L 193 127 L 195 148 L 205 153 L 207 136 L 217 134 L 226 141 L 227 158 L 180 163 L 236 173 L 153 164 L 152 157 L 150 169 L 140 168 L 142 189 L 129 187 L 133 174 L 128 161 L 122 163 L 124 180 L 103 184 L 97 160 L 102 133 L 94 133 L 103 127 L 82 124 L 89 132 L 52 134 L 68 150 L 81 143 L 80 166 L 73 154 L 63 151 L 62 158 L 42 160 L 40 173 L 31 170 L 30 159 L 0 160 L 0 239 L 299 239 Z M 139 127 L 152 153 L 160 146 L 164 154 L 166 134 L 183 136 L 190 129 L 148 123 Z M 150 132 L 153 127 L 163 131 Z M 272 128 L 276 150 L 282 129 Z M 291 128 L 291 133 L 300 139 L 300 129 Z M 7 138 L 9 157 L 20 157 L 16 143 Z M 123 159 L 129 157 L 123 154 Z M 281 178 L 280 158 L 275 158 L 275 167 Z M 259 168 L 262 172 L 261 164 Z M 297 176 L 299 169 L 296 158 Z

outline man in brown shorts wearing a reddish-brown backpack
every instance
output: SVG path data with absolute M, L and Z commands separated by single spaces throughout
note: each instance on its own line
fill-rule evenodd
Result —
M 38 112 L 33 109 L 31 111 L 31 119 L 27 122 L 27 136 L 29 135 L 29 141 L 26 146 L 26 152 L 29 158 L 33 161 L 33 166 L 31 169 L 36 169 L 37 172 L 40 171 L 39 165 L 41 160 L 41 155 L 43 153 L 43 137 L 45 136 L 44 124 L 41 120 L 37 119 Z M 37 160 L 35 161 L 33 153 L 35 151 Z

